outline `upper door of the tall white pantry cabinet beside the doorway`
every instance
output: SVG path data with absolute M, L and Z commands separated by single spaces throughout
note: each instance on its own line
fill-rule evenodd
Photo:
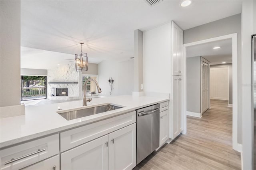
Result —
M 172 21 L 172 75 L 184 75 L 183 30 Z

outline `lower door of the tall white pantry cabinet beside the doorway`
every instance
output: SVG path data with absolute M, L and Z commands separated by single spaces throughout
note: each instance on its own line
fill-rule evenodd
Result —
M 172 139 L 183 130 L 183 76 L 172 76 Z

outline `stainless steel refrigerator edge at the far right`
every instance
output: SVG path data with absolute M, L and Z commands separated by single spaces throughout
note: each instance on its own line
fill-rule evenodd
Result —
M 253 133 L 253 169 L 256 169 L 256 35 L 252 36 L 252 133 Z

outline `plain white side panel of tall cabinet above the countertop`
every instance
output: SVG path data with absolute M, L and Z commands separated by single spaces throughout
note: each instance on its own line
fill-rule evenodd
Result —
M 144 91 L 171 93 L 171 23 L 143 32 Z

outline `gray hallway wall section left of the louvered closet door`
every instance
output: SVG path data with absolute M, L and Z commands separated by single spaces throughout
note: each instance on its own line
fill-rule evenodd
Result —
M 187 111 L 201 113 L 201 57 L 187 58 Z

